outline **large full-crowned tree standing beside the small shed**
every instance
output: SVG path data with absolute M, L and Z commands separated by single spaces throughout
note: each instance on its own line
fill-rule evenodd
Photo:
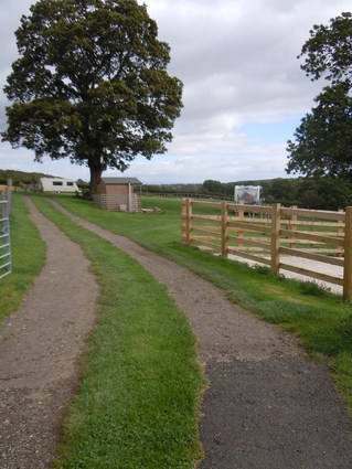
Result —
M 70 158 L 90 170 L 125 170 L 171 141 L 182 83 L 170 47 L 136 0 L 40 0 L 15 32 L 20 57 L 4 92 L 3 140 L 35 159 Z

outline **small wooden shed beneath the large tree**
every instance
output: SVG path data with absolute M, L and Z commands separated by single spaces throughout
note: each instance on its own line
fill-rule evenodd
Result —
M 93 200 L 105 210 L 140 212 L 141 185 L 137 178 L 102 178 Z

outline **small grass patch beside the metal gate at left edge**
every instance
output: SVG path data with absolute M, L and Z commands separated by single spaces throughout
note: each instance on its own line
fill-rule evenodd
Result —
M 46 247 L 21 195 L 12 196 L 11 252 L 13 271 L 0 280 L 0 322 L 21 305 L 44 263 Z

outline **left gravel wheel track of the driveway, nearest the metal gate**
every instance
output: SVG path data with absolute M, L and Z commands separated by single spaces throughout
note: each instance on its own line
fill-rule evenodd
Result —
M 26 203 L 47 254 L 33 289 L 0 328 L 1 469 L 51 467 L 98 297 L 81 247 Z

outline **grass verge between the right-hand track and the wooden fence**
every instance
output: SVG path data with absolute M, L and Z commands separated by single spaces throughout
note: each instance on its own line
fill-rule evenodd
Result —
M 228 298 L 268 322 L 294 332 L 311 355 L 322 358 L 352 409 L 352 306 L 314 284 L 277 278 L 267 268 L 249 268 L 180 243 L 179 200 L 143 199 L 162 215 L 111 213 L 90 202 L 58 199 L 73 213 L 189 267 L 223 288 Z

